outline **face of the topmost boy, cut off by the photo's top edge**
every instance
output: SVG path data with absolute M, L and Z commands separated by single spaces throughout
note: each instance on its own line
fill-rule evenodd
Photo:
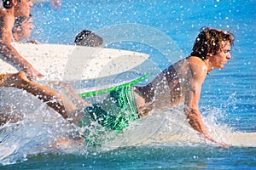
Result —
M 15 17 L 29 17 L 30 9 L 33 6 L 32 0 L 16 0 Z

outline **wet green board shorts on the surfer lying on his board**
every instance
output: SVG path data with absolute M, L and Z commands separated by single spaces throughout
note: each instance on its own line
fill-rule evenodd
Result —
M 132 86 L 119 87 L 108 94 L 102 103 L 94 104 L 84 109 L 84 119 L 79 122 L 80 127 L 87 126 L 90 117 L 102 127 L 116 132 L 129 126 L 130 121 L 138 118 L 137 106 Z

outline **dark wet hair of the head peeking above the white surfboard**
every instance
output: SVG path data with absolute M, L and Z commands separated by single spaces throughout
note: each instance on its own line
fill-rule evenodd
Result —
M 88 47 L 99 47 L 102 45 L 102 37 L 97 36 L 89 30 L 81 31 L 75 38 L 75 44 Z

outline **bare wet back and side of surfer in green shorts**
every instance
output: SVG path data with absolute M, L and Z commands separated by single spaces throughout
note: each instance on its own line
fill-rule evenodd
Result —
M 191 71 L 187 59 L 169 66 L 145 87 L 136 87 L 136 93 L 144 99 L 146 108 L 143 115 L 153 108 L 165 111 L 184 101 L 191 84 Z

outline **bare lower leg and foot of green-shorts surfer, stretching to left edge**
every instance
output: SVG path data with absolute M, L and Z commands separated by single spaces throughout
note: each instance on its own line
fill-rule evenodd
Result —
M 77 110 L 75 105 L 65 95 L 59 94 L 55 90 L 36 82 L 31 82 L 27 79 L 24 71 L 16 74 L 0 75 L 0 86 L 25 89 L 28 93 L 46 102 L 47 105 L 59 112 L 64 118 L 71 116 Z

